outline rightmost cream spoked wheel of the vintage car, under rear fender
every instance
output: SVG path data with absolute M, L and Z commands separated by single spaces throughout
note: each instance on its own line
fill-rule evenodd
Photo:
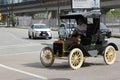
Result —
M 116 60 L 116 51 L 113 46 L 107 46 L 104 51 L 104 61 L 107 65 L 113 64 Z

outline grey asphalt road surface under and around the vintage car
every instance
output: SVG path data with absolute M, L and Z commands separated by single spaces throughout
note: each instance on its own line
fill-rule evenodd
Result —
M 87 58 L 78 70 L 72 70 L 67 60 L 56 59 L 45 68 L 39 60 L 43 47 L 57 40 L 28 39 L 27 29 L 0 28 L 0 80 L 120 80 L 120 51 L 113 65 L 106 65 L 102 57 Z M 111 38 L 120 49 L 120 39 Z

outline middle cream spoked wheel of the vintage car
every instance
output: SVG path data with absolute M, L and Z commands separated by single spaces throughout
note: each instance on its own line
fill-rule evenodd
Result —
M 68 61 L 72 69 L 79 69 L 84 61 L 82 50 L 80 50 L 79 48 L 73 49 L 69 54 Z

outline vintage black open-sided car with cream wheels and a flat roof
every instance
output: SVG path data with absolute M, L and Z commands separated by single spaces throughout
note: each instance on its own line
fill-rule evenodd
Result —
M 86 37 L 80 34 L 76 37 L 70 34 L 68 37 L 59 37 L 52 47 L 45 47 L 40 53 L 41 63 L 50 67 L 55 58 L 66 58 L 72 69 L 79 69 L 85 58 L 103 56 L 107 65 L 116 60 L 118 47 L 113 42 L 108 42 L 109 32 L 100 30 L 100 12 L 69 13 L 60 16 L 61 21 L 72 21 L 78 17 L 84 17 L 87 24 Z M 74 27 L 74 26 L 73 26 Z M 75 29 L 73 29 L 75 30 Z M 72 31 L 74 33 L 74 31 Z

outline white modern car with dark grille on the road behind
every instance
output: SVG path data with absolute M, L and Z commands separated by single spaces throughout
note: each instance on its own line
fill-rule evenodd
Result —
M 51 29 L 46 24 L 33 24 L 28 30 L 29 38 L 52 38 Z

